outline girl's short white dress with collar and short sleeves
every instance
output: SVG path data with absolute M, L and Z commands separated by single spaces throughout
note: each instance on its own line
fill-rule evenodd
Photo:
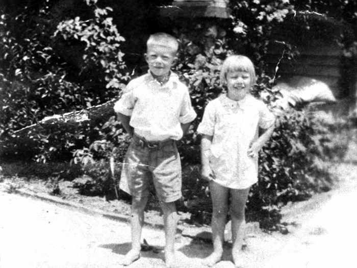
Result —
M 274 122 L 267 106 L 250 94 L 241 101 L 221 95 L 206 106 L 197 131 L 213 136 L 209 160 L 218 184 L 245 189 L 258 181 L 258 156 L 247 152 L 259 127 L 267 129 Z

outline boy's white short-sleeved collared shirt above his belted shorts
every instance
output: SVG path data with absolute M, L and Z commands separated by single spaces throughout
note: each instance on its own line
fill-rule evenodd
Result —
M 188 88 L 172 71 L 163 85 L 149 71 L 130 81 L 114 111 L 131 116 L 135 133 L 148 141 L 179 140 L 183 136 L 181 124 L 196 118 Z

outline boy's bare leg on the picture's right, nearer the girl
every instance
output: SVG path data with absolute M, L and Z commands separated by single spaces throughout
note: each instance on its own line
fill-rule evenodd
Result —
M 175 235 L 177 228 L 177 213 L 174 202 L 161 202 L 161 209 L 164 214 L 165 228 L 165 263 L 170 268 L 175 262 Z

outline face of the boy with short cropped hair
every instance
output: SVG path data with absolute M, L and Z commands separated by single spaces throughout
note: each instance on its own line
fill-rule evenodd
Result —
M 152 74 L 158 78 L 166 77 L 176 59 L 175 54 L 176 52 L 171 47 L 159 44 L 149 45 L 145 59 Z

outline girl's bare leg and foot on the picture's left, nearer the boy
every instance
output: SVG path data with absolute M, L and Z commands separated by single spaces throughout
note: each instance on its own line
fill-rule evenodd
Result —
M 210 192 L 213 205 L 211 222 L 213 252 L 210 256 L 204 259 L 202 263 L 212 267 L 222 259 L 229 189 L 214 181 L 210 181 Z

